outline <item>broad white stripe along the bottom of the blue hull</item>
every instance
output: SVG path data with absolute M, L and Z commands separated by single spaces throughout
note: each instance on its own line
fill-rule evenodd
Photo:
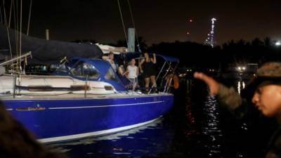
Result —
M 162 116 L 160 116 L 160 117 L 162 117 Z M 159 119 L 160 117 L 158 117 L 157 119 Z M 125 130 L 128 130 L 128 129 L 133 129 L 133 128 L 136 128 L 138 126 L 143 126 L 145 124 L 149 124 L 152 121 L 156 121 L 157 119 L 152 119 L 150 121 L 145 121 L 145 122 L 140 123 L 140 124 L 133 124 L 133 125 L 130 125 L 130 126 L 123 126 L 123 127 L 119 127 L 119 128 L 115 128 L 115 129 L 107 129 L 107 130 L 103 130 L 103 131 L 74 134 L 74 135 L 70 135 L 70 136 L 44 138 L 44 139 L 39 139 L 39 142 L 49 143 L 49 142 L 55 142 L 55 141 L 61 141 L 61 140 L 71 140 L 71 139 L 77 139 L 77 138 L 84 138 L 84 137 L 89 137 L 89 136 L 100 136 L 100 135 L 104 135 L 104 134 L 108 134 L 108 133 L 115 133 L 115 132 L 118 132 L 118 131 L 125 131 Z

